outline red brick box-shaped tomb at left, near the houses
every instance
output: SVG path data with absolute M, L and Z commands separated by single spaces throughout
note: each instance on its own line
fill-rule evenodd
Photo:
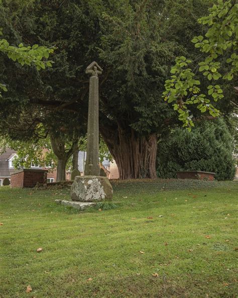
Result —
M 11 187 L 34 187 L 46 184 L 47 170 L 22 169 L 11 175 Z

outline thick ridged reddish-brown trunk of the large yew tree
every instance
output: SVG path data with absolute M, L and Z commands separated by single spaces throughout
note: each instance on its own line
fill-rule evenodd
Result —
M 100 129 L 113 156 L 120 179 L 156 178 L 157 135 L 140 136 L 118 127 L 117 133 Z

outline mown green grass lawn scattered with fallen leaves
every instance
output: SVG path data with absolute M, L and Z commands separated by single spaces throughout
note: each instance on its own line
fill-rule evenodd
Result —
M 237 182 L 113 189 L 116 209 L 80 212 L 54 202 L 69 189 L 1 187 L 0 296 L 236 297 Z

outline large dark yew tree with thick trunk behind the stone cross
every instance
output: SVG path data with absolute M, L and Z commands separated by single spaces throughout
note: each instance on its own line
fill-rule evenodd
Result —
M 5 95 L 2 108 L 37 106 L 42 114 L 51 115 L 50 121 L 67 110 L 72 113 L 70 125 L 85 123 L 89 85 L 85 68 L 96 60 L 103 68 L 100 133 L 120 178 L 155 178 L 158 135 L 177 118 L 162 98 L 164 82 L 176 55 L 196 56 L 190 40 L 201 34 L 196 20 L 206 14 L 211 1 L 8 0 L 3 4 L 0 25 L 13 43 L 27 41 L 57 49 L 53 67 L 40 74 L 32 67 L 12 77 L 4 61 L 2 75 L 12 91 Z

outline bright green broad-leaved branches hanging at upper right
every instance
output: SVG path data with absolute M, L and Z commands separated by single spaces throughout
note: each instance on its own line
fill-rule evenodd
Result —
M 202 53 L 199 62 L 196 61 L 192 70 L 190 65 L 194 61 L 184 56 L 177 57 L 170 71 L 172 76 L 165 82 L 165 100 L 173 103 L 174 110 L 179 113 L 179 120 L 189 130 L 194 126 L 190 105 L 196 105 L 201 113 L 209 111 L 211 116 L 218 116 L 219 110 L 213 102 L 216 103 L 224 95 L 221 86 L 215 81 L 231 81 L 237 76 L 237 15 L 238 4 L 234 0 L 217 0 L 217 4 L 209 9 L 209 15 L 198 19 L 200 24 L 209 26 L 205 37 L 199 35 L 192 39 L 195 48 Z M 222 59 L 225 59 L 225 65 L 222 65 Z M 209 81 L 206 91 L 199 87 L 201 82 L 196 77 L 197 71 Z

